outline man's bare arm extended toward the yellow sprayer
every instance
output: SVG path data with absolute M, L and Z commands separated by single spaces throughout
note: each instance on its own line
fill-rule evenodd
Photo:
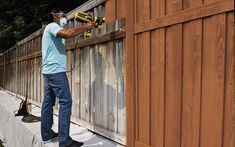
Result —
M 56 37 L 60 37 L 60 38 L 64 38 L 64 39 L 72 38 L 72 37 L 75 37 L 75 36 L 83 33 L 85 30 L 91 29 L 95 25 L 96 24 L 94 22 L 88 22 L 82 26 L 78 26 L 78 27 L 74 27 L 74 28 L 70 28 L 70 29 L 61 29 L 56 34 Z

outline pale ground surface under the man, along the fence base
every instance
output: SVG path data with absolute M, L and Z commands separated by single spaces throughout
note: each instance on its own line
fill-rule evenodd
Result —
M 23 123 L 22 116 L 14 117 L 19 108 L 19 99 L 0 90 L 0 140 L 5 147 L 58 147 L 58 140 L 44 144 L 41 140 L 40 122 Z M 31 114 L 40 116 L 40 108 L 32 105 Z M 53 130 L 57 132 L 58 117 L 54 115 Z M 74 140 L 84 142 L 84 147 L 121 147 L 106 138 L 93 134 L 87 129 L 71 123 L 70 135 Z

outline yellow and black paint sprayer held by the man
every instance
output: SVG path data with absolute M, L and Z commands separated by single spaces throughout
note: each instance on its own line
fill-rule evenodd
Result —
M 99 30 L 102 29 L 102 24 L 105 23 L 104 17 L 97 17 L 97 16 L 92 17 L 91 14 L 85 13 L 85 12 L 75 12 L 74 19 L 78 22 L 81 22 L 81 23 L 87 23 L 87 22 L 93 21 L 96 23 L 96 28 Z M 84 36 L 90 37 L 91 36 L 91 29 L 88 30 L 87 32 L 85 32 Z

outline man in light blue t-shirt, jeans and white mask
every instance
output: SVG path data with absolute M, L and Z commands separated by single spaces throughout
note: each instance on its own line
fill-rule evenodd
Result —
M 62 10 L 53 10 L 50 24 L 42 37 L 42 66 L 44 76 L 44 100 L 41 110 L 41 135 L 47 143 L 59 136 L 59 147 L 79 147 L 83 143 L 72 140 L 69 136 L 72 98 L 66 76 L 65 40 L 75 37 L 95 26 L 89 22 L 79 27 L 64 29 L 67 24 L 66 15 Z M 59 101 L 59 132 L 51 128 L 53 124 L 53 106 L 55 98 Z

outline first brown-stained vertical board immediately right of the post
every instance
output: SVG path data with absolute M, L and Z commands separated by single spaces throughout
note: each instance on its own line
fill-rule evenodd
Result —
M 137 1 L 139 4 L 141 0 Z M 150 19 L 150 1 L 137 7 L 137 22 Z M 150 144 L 150 32 L 137 36 L 137 140 Z

